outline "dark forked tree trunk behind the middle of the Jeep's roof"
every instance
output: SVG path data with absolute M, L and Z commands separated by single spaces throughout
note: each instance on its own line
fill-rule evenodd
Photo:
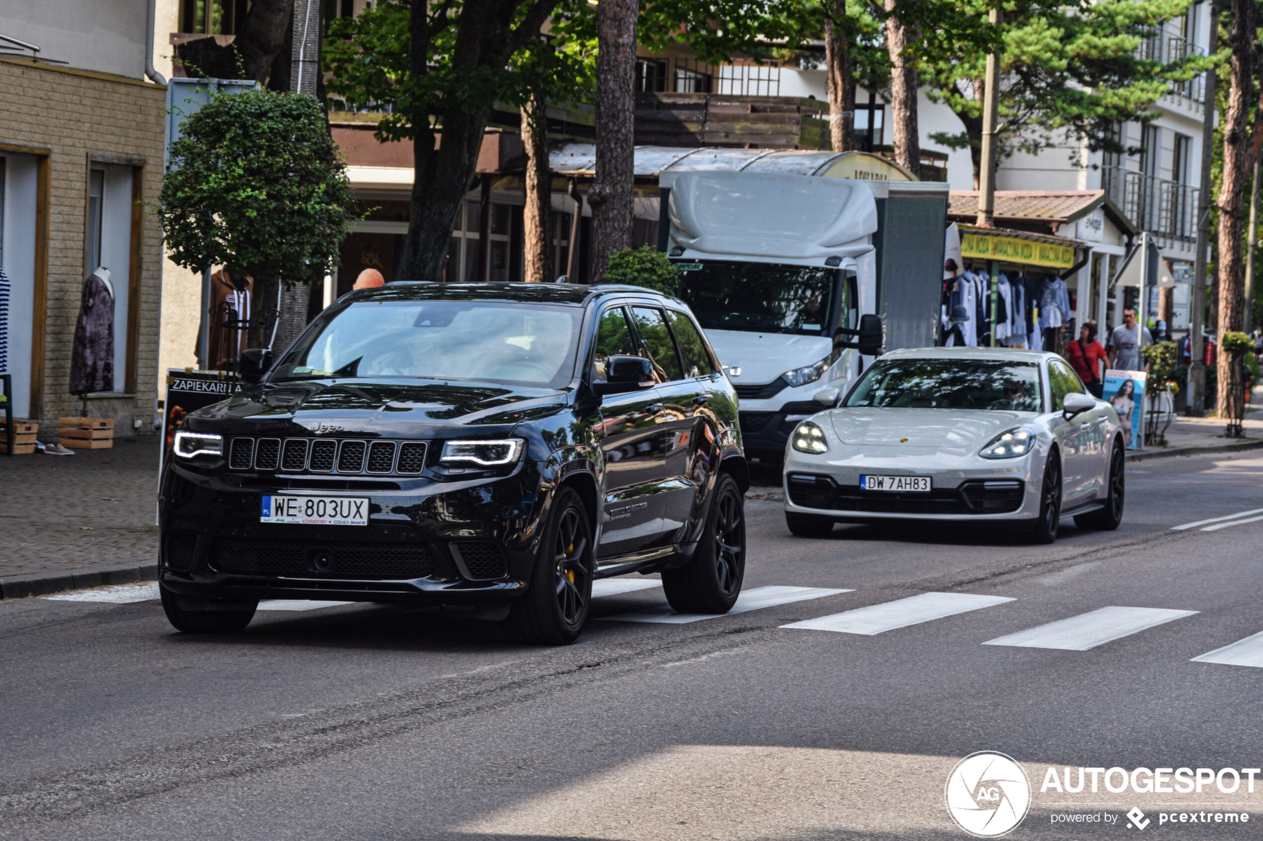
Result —
M 466 0 L 457 20 L 452 49 L 452 72 L 460 78 L 476 78 L 481 68 L 504 67 L 513 52 L 534 38 L 557 0 L 533 0 L 517 28 L 513 26 L 520 0 Z M 428 4 L 414 0 L 409 21 L 410 74 L 421 79 L 428 72 Z M 630 90 L 630 84 L 629 84 Z M 413 182 L 410 218 L 399 260 L 400 280 L 442 280 L 452 223 L 466 190 L 474 182 L 482 132 L 491 115 L 491 103 L 480 106 L 452 97 L 438 115 L 442 144 L 431 115 L 409 115 L 416 131 L 413 141 Z

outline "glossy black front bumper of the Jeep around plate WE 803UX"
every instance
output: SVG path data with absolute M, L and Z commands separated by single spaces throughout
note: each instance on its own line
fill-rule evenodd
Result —
M 547 507 L 538 465 L 445 482 L 325 484 L 169 465 L 160 504 L 163 585 L 191 598 L 422 604 L 504 601 L 525 590 Z M 369 523 L 259 522 L 261 497 L 278 493 L 368 497 Z

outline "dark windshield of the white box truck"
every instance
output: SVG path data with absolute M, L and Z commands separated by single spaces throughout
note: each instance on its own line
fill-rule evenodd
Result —
M 677 262 L 681 298 L 707 330 L 823 335 L 836 309 L 839 270 L 770 262 Z

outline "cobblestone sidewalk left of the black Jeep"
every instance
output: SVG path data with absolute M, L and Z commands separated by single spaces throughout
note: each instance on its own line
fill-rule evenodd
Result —
M 0 577 L 158 560 L 158 441 L 0 455 Z

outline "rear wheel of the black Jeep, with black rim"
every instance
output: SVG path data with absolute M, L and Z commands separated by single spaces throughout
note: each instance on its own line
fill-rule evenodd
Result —
M 662 571 L 662 589 L 678 613 L 727 613 L 745 580 L 745 498 L 720 473 L 697 550 L 688 562 Z

